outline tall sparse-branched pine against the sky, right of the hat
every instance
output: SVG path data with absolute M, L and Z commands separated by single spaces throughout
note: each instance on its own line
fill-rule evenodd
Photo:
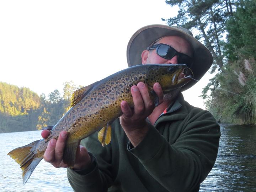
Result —
M 226 18 L 233 15 L 232 2 L 230 0 L 166 0 L 166 3 L 180 7 L 178 15 L 167 20 L 168 25 L 199 31 L 195 37 L 204 42 L 214 58 L 212 71 L 217 68 L 224 70 L 221 38 L 225 32 Z

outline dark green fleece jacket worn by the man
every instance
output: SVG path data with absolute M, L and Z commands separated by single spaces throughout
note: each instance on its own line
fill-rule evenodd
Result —
M 212 114 L 180 94 L 135 148 L 119 119 L 111 137 L 105 147 L 97 132 L 81 141 L 92 163 L 87 170 L 67 169 L 74 191 L 199 191 L 217 158 L 220 127 Z

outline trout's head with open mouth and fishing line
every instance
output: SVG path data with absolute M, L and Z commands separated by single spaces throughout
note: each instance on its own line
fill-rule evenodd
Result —
M 193 72 L 185 64 L 156 64 L 149 68 L 145 82 L 153 89 L 159 82 L 164 94 L 187 84 L 193 78 Z

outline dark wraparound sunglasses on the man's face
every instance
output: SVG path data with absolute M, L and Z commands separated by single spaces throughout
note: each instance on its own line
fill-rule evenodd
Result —
M 193 63 L 193 59 L 190 56 L 177 52 L 173 47 L 169 45 L 159 43 L 147 48 L 147 50 L 151 49 L 156 49 L 156 54 L 165 59 L 171 59 L 177 55 L 178 64 L 186 64 L 188 67 L 190 67 Z

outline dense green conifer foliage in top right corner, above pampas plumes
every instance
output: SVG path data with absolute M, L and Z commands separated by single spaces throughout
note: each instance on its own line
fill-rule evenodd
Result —
M 228 43 L 225 44 L 224 55 L 230 62 L 239 59 L 239 55 L 256 58 L 256 2 L 245 1 L 237 4 L 234 17 L 226 22 Z

